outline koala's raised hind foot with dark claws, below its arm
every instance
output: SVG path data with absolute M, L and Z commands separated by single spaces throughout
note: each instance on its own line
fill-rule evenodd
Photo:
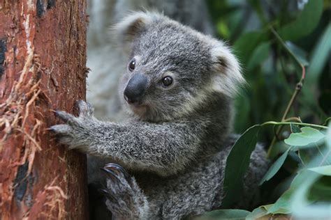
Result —
M 106 164 L 107 189 L 103 189 L 108 210 L 113 219 L 147 219 L 149 205 L 147 198 L 135 179 L 118 164 Z

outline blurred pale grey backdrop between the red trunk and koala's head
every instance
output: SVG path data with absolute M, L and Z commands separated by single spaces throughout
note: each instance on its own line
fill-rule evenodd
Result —
M 212 21 L 203 0 L 89 0 L 87 29 L 87 101 L 94 106 L 97 118 L 122 122 L 126 114 L 117 97 L 117 82 L 126 68 L 127 56 L 117 41 L 109 37 L 109 26 L 119 22 L 129 11 L 158 10 L 182 24 L 209 35 Z M 121 97 L 122 98 L 122 97 Z M 89 178 L 91 181 L 95 178 Z

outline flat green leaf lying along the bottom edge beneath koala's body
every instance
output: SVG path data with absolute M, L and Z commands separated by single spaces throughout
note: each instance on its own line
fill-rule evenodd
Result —
M 245 219 L 251 212 L 246 210 L 214 210 L 212 212 L 206 212 L 193 219 L 204 220 L 221 220 L 221 219 Z

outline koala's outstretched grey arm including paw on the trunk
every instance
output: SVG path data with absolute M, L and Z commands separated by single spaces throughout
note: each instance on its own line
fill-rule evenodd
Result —
M 57 116 L 66 125 L 51 129 L 69 148 L 101 157 L 110 157 L 127 166 L 175 173 L 193 159 L 198 151 L 203 123 L 106 123 L 92 116 L 89 104 L 80 101 L 80 116 L 64 111 Z

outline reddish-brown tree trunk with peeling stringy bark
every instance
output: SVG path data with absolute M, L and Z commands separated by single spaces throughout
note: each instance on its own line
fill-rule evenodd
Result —
M 0 0 L 0 219 L 87 219 L 86 157 L 47 127 L 85 97 L 84 0 Z

